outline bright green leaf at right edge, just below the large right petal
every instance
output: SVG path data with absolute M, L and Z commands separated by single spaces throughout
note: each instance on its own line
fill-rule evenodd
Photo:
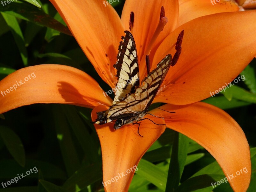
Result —
M 238 87 L 236 85 L 229 87 L 225 92 L 222 92 L 222 94 L 228 100 L 232 100 L 233 98 L 235 98 L 235 99 L 246 101 L 249 103 L 256 103 L 256 94 L 250 93 L 245 89 Z

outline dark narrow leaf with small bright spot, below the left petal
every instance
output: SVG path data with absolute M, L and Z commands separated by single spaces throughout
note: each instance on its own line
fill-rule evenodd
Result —
M 58 105 L 55 105 L 53 107 L 53 111 L 55 129 L 62 158 L 68 172 L 68 176 L 71 176 L 79 168 L 80 160 L 78 158 L 78 154 L 76 152 L 76 148 L 69 131 L 68 122 L 62 108 Z

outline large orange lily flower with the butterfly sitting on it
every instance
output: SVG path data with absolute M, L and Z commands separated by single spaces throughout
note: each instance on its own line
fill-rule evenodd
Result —
M 164 120 L 146 116 L 166 126 L 142 121 L 140 133 L 144 138 L 141 138 L 137 126 L 125 125 L 115 131 L 113 124 L 95 124 L 101 143 L 104 182 L 137 165 L 168 127 L 207 149 L 225 175 L 246 167 L 247 174 L 229 181 L 234 191 L 246 191 L 251 161 L 243 130 L 226 112 L 200 100 L 232 81 L 256 55 L 256 21 L 251 19 L 256 17 L 256 11 L 236 12 L 239 8 L 232 2 L 213 6 L 202 0 L 126 0 L 120 19 L 113 7 L 105 6 L 101 0 L 50 1 L 111 88 L 116 85 L 113 64 L 118 42 L 124 30 L 129 29 L 131 12 L 135 14 L 132 34 L 137 45 L 140 79 L 146 75 L 144 56 L 149 54 L 153 61 L 151 70 L 156 68 L 166 54 L 174 54 L 177 36 L 183 29 L 185 32 L 180 59 L 169 70 L 153 101 L 168 103 L 161 108 L 176 113 L 154 109 L 150 113 Z M 165 16 L 159 22 L 162 6 Z M 32 73 L 35 78 L 26 83 L 20 81 Z M 11 91 L 14 84 L 19 87 Z M 0 95 L 0 113 L 33 103 L 62 103 L 93 108 L 92 120 L 95 120 L 96 112 L 112 104 L 92 77 L 64 65 L 22 68 L 3 79 L 0 90 L 6 90 Z M 105 191 L 127 191 L 133 174 L 106 185 Z

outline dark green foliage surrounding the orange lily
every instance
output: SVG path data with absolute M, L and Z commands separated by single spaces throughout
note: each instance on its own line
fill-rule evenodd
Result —
M 112 4 L 119 15 L 123 5 L 121 0 Z M 49 1 L 0 4 L 0 12 L 1 79 L 26 66 L 54 63 L 79 68 L 96 79 L 104 90 L 109 89 L 76 40 L 69 36 L 64 21 Z M 255 63 L 252 60 L 241 73 L 245 81 L 228 88 L 225 94 L 204 100 L 228 112 L 245 132 L 252 158 L 248 192 L 256 190 Z M 90 114 L 91 109 L 87 108 L 35 104 L 1 115 L 0 183 L 35 166 L 39 171 L 7 188 L 1 186 L 0 192 L 104 191 L 100 143 L 90 124 Z M 216 126 L 225 129 L 221 124 Z M 167 179 L 168 171 L 177 174 Z M 224 177 L 220 166 L 204 148 L 167 129 L 143 156 L 129 191 L 232 191 L 229 184 L 212 188 L 211 182 Z

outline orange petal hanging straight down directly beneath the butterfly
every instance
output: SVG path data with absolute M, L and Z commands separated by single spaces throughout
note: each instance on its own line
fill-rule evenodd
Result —
M 96 112 L 106 110 L 106 106 L 98 106 L 92 110 L 92 120 L 97 118 Z M 147 116 L 145 116 L 147 117 Z M 150 119 L 157 124 L 164 124 L 164 120 L 150 116 Z M 138 125 L 125 125 L 119 130 L 114 130 L 113 124 L 104 125 L 95 124 L 98 133 L 102 151 L 103 161 L 103 182 L 105 182 L 105 191 L 120 192 L 128 191 L 129 185 L 134 175 L 135 165 L 137 166 L 143 154 L 147 149 L 158 139 L 164 132 L 165 125 L 155 125 L 154 123 L 144 120 L 140 122 L 140 134 L 138 133 Z M 128 174 L 126 170 L 130 170 Z M 124 172 L 124 176 L 122 173 Z M 109 184 L 107 181 L 112 178 L 121 178 L 117 181 L 112 181 Z

